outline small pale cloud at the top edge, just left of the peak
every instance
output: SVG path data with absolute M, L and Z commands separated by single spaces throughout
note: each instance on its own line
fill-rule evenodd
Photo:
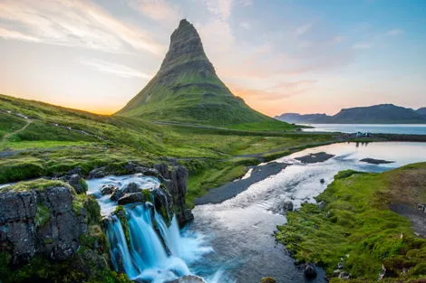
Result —
M 127 0 L 126 3 L 156 21 L 176 23 L 182 17 L 180 7 L 166 0 Z

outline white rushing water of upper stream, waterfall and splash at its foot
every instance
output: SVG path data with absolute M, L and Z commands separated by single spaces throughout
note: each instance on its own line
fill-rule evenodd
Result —
M 193 274 L 189 265 L 197 264 L 213 249 L 200 233 L 182 234 L 176 217 L 173 216 L 168 224 L 152 203 L 124 206 L 129 226 L 129 238 L 126 239 L 119 217 L 111 214 L 118 203 L 111 201 L 110 194 L 102 194 L 102 185 L 124 187 L 130 183 L 146 189 L 155 189 L 160 185 L 157 178 L 143 175 L 108 176 L 88 181 L 88 193 L 100 203 L 102 215 L 109 217 L 107 239 L 114 269 L 125 272 L 132 280 L 150 283 L 168 282 Z M 212 272 L 207 282 L 223 282 L 220 274 L 221 271 Z

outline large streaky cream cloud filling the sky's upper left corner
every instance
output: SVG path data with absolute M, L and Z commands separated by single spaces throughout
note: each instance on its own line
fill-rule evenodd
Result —
M 122 24 L 89 1 L 4 0 L 0 3 L 0 27 L 5 29 L 5 23 L 14 24 L 15 39 L 103 52 L 129 52 L 129 46 L 137 51 L 163 52 L 152 34 Z

